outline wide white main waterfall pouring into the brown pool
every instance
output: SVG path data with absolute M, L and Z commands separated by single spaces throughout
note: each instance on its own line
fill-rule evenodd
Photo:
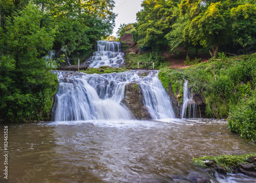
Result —
M 121 103 L 125 85 L 141 86 L 143 100 L 153 119 L 175 118 L 172 101 L 158 79 L 158 71 L 127 71 L 111 74 L 85 74 L 55 71 L 59 79 L 53 108 L 54 121 L 132 119 Z M 73 72 L 74 73 L 74 72 Z

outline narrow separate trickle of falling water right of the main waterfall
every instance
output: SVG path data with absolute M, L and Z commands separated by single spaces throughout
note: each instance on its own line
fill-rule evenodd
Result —
M 197 105 L 195 104 L 195 101 L 193 100 L 193 95 L 191 95 L 191 93 L 189 92 L 187 85 L 188 81 L 184 80 L 181 118 L 185 118 L 187 112 L 188 118 L 196 118 Z

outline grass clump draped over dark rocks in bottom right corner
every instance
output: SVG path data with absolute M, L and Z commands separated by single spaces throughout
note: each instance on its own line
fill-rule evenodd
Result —
M 220 156 L 202 156 L 198 159 L 193 158 L 193 164 L 205 166 L 206 161 L 215 162 L 218 166 L 223 166 L 230 173 L 230 165 L 238 166 L 239 163 L 247 163 L 246 160 L 250 158 L 250 156 L 256 155 L 252 154 L 243 154 L 243 155 L 220 155 Z

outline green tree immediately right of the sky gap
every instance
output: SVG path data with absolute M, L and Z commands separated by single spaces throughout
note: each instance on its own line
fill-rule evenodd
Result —
M 140 36 L 138 45 L 161 50 L 167 44 L 165 35 L 172 30 L 172 24 L 175 22 L 173 13 L 177 2 L 145 0 L 141 6 L 143 9 L 137 13 L 136 25 Z

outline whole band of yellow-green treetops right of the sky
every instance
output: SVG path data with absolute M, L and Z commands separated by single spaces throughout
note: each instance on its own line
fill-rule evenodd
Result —
M 134 24 L 134 41 L 143 50 L 161 55 L 184 48 L 207 49 L 217 58 L 219 51 L 234 55 L 256 49 L 255 1 L 144 0 Z M 120 34 L 126 27 L 121 25 Z

